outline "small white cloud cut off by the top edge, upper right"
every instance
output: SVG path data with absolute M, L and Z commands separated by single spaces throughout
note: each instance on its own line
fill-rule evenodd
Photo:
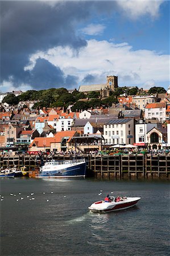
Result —
M 163 0 L 123 0 L 117 1 L 117 4 L 123 11 L 125 11 L 127 16 L 130 16 L 132 19 L 139 18 L 140 16 L 149 14 L 152 18 L 155 18 L 159 15 L 159 8 Z

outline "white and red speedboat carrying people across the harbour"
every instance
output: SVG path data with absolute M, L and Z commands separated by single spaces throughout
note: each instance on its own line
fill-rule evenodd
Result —
M 141 197 L 109 197 L 109 201 L 97 201 L 90 205 L 91 212 L 107 213 L 115 210 L 124 210 L 133 207 L 138 203 Z

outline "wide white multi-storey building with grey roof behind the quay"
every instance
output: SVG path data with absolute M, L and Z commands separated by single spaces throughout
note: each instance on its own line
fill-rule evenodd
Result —
M 134 119 L 111 119 L 103 126 L 103 137 L 106 144 L 134 143 Z

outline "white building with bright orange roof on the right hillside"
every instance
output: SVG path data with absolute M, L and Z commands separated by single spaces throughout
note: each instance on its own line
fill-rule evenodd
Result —
M 145 119 L 157 118 L 160 122 L 166 119 L 166 104 L 165 102 L 147 104 L 144 113 Z

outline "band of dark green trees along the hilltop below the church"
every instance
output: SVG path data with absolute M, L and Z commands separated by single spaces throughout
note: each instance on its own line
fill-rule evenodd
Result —
M 117 97 L 123 93 L 126 95 L 136 95 L 139 92 L 138 87 L 129 89 L 128 87 L 119 87 L 115 89 L 115 92 L 110 93 L 110 96 L 101 99 L 99 92 L 89 92 L 84 94 L 74 90 L 69 93 L 65 88 L 51 88 L 47 90 L 27 90 L 27 92 L 22 93 L 20 96 L 15 96 L 13 93 L 9 93 L 5 98 L 3 98 L 3 103 L 6 102 L 9 105 L 17 105 L 19 101 L 32 101 L 37 100 L 34 108 L 38 107 L 65 107 L 73 105 L 72 111 L 77 109 L 88 109 L 95 108 L 99 106 L 111 106 L 112 103 L 117 103 Z M 166 90 L 162 87 L 154 87 L 149 90 L 148 93 L 165 93 Z M 86 101 L 78 101 L 80 99 L 90 99 Z

